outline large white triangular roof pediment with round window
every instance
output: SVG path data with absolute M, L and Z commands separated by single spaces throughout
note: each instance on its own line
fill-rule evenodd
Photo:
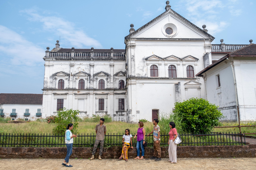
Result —
M 173 34 L 167 35 L 165 33 L 166 28 L 172 28 Z M 125 39 L 129 38 L 214 39 L 213 36 L 192 24 L 172 9 L 165 11 L 125 37 Z

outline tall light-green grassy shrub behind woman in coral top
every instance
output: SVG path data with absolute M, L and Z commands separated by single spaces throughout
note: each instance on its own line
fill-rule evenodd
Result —
M 175 123 L 175 128 L 177 129 L 178 133 L 184 132 L 184 123 L 183 123 L 183 115 L 180 112 L 174 113 L 165 113 L 161 112 L 159 116 L 159 123 L 158 126 L 160 127 L 160 131 L 162 133 L 169 133 L 170 127 L 169 122 Z

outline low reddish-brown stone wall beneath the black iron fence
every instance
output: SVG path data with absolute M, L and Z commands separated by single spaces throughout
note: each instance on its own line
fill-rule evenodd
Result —
M 145 148 L 144 158 L 149 158 L 153 155 L 151 147 Z M 122 148 L 114 146 L 104 148 L 102 158 L 116 159 L 121 155 Z M 254 148 L 246 146 L 178 146 L 178 158 L 230 158 L 230 157 L 255 157 Z M 91 157 L 92 148 L 89 147 L 73 147 L 73 153 L 70 158 Z M 67 153 L 66 147 L 52 148 L 35 148 L 35 147 L 0 147 L 0 158 L 65 158 Z M 97 148 L 95 157 L 98 158 L 99 148 Z M 128 150 L 128 158 L 137 156 L 136 147 Z M 168 158 L 168 147 L 161 147 L 161 157 Z

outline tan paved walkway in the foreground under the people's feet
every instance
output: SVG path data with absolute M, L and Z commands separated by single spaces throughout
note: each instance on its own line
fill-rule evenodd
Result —
M 176 164 L 150 159 L 127 162 L 118 159 L 70 159 L 72 168 L 62 166 L 63 159 L 1 159 L 0 169 L 76 169 L 76 170 L 256 170 L 256 158 L 178 158 Z

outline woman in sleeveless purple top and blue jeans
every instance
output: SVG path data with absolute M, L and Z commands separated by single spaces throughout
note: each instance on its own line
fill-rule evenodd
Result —
M 139 122 L 138 124 L 139 128 L 138 128 L 138 131 L 137 133 L 135 134 L 134 136 L 134 139 L 135 137 L 137 136 L 137 157 L 134 158 L 134 159 L 144 159 L 144 144 L 145 144 L 145 129 L 143 128 L 144 124 L 143 122 Z M 141 148 L 141 157 L 140 157 L 140 148 Z

